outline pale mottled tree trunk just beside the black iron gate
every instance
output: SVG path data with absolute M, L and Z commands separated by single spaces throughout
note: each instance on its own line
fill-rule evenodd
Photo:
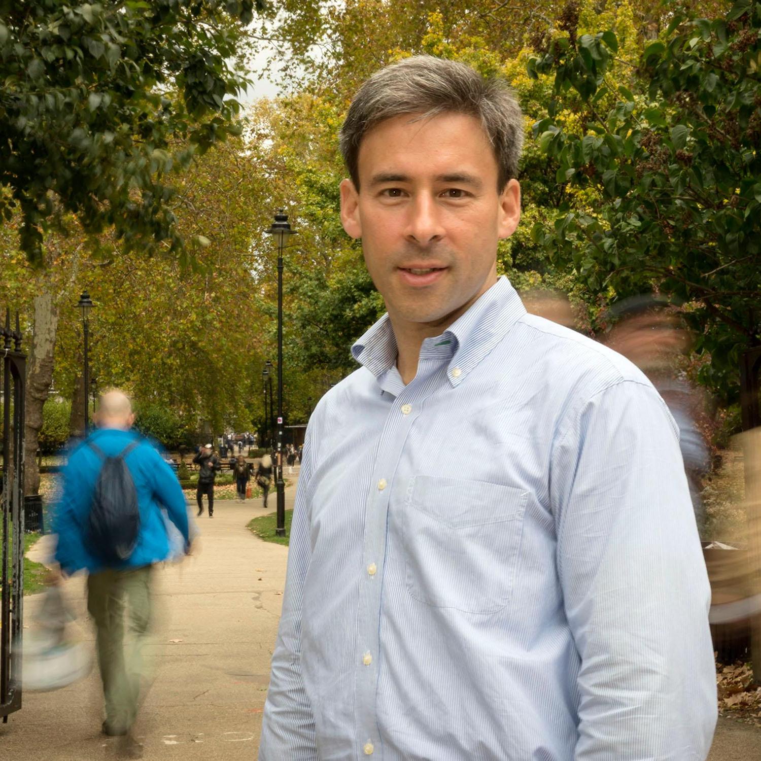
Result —
M 24 428 L 24 495 L 40 492 L 40 470 L 37 467 L 40 428 L 43 427 L 43 405 L 53 381 L 53 353 L 56 349 L 58 306 L 46 274 L 37 279 L 34 297 L 34 332 L 27 358 L 27 396 Z

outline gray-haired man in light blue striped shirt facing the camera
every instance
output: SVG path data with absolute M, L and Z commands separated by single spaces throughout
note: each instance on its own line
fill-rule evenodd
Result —
M 708 753 L 709 590 L 673 420 L 496 274 L 523 129 L 500 81 L 427 56 L 349 109 L 342 222 L 388 313 L 310 419 L 262 761 Z

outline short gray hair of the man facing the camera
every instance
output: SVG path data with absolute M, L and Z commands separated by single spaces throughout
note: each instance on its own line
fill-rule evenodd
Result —
M 368 130 L 393 116 L 416 115 L 412 121 L 417 121 L 447 112 L 479 119 L 494 148 L 501 192 L 517 177 L 521 107 L 504 78 L 484 77 L 464 63 L 434 56 L 412 56 L 381 68 L 359 88 L 341 128 L 341 152 L 355 188 L 359 146 Z

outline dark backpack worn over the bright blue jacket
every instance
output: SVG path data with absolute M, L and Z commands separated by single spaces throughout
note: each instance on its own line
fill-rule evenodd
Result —
M 140 443 L 132 441 L 116 457 L 107 457 L 100 447 L 88 441 L 88 447 L 103 460 L 90 508 L 88 546 L 107 563 L 129 558 L 138 540 L 138 494 L 124 460 Z

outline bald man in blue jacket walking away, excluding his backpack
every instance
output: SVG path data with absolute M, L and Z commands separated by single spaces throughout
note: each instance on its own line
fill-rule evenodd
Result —
M 145 677 L 143 650 L 151 625 L 153 566 L 170 556 L 162 510 L 166 510 L 189 552 L 188 517 L 183 490 L 173 470 L 145 439 L 130 431 L 135 415 L 129 398 L 118 390 L 100 397 L 97 431 L 69 457 L 53 531 L 58 535 L 56 562 L 62 575 L 88 572 L 88 611 L 96 627 L 96 645 L 106 720 L 103 733 L 125 737 L 130 755 L 139 753 L 131 736 Z M 93 495 L 103 457 L 124 453 L 138 498 L 139 532 L 132 553 L 106 564 L 88 536 Z M 133 639 L 124 652 L 124 615 Z

